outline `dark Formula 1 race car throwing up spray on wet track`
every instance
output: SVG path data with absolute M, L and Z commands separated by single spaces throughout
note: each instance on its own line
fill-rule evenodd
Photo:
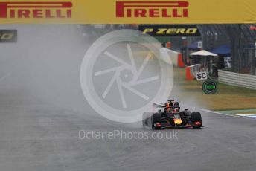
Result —
M 199 112 L 188 109 L 180 112 L 179 102 L 168 100 L 167 103 L 153 103 L 153 112 L 145 112 L 142 118 L 144 128 L 202 128 L 202 117 Z

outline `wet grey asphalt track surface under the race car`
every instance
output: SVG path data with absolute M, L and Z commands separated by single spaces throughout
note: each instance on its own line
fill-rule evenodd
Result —
M 1 106 L 0 168 L 7 171 L 255 170 L 255 120 L 202 113 L 205 128 L 173 140 L 88 140 L 80 130 L 147 132 L 49 106 Z M 160 130 L 156 132 L 172 132 Z

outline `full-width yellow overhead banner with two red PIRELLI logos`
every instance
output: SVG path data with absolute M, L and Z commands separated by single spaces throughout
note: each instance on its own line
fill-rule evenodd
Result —
M 256 23 L 255 0 L 0 1 L 1 23 Z

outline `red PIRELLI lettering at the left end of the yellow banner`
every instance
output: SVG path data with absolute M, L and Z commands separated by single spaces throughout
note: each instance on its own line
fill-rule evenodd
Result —
M 70 1 L 8 1 L 0 2 L 0 18 L 71 18 Z

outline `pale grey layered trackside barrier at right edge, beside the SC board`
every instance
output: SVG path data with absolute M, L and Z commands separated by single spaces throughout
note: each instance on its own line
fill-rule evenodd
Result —
M 231 86 L 239 86 L 256 90 L 256 76 L 248 74 L 238 74 L 223 70 L 219 71 L 219 82 Z

